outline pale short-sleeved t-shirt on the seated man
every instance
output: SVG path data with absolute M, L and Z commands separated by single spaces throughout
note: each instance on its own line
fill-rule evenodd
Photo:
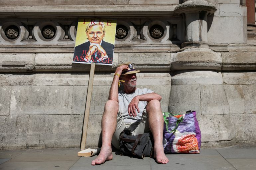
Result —
M 123 113 L 123 118 L 125 123 L 137 122 L 141 120 L 143 110 L 147 105 L 147 101 L 139 101 L 138 107 L 139 107 L 140 113 L 138 113 L 136 109 L 136 113 L 137 113 L 136 117 L 129 116 L 128 105 L 130 104 L 133 97 L 142 95 L 142 94 L 147 94 L 147 93 L 154 93 L 154 91 L 147 88 L 143 88 L 143 89 L 136 88 L 136 90 L 131 94 L 125 93 L 124 90 L 121 90 L 118 92 L 119 111 Z

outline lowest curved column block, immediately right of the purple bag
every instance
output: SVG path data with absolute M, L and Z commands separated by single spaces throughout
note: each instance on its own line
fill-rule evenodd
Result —
M 202 135 L 203 146 L 221 147 L 233 144 L 232 140 L 236 136 L 229 115 L 197 115 L 196 117 Z M 226 144 L 219 144 L 218 142 L 221 141 L 226 141 Z

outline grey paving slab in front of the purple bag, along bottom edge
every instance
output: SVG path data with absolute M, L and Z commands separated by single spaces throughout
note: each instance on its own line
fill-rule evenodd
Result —
M 221 155 L 200 155 L 200 154 L 176 154 L 167 155 L 170 162 L 168 164 L 158 164 L 151 161 L 151 169 L 214 169 L 214 170 L 235 170 Z

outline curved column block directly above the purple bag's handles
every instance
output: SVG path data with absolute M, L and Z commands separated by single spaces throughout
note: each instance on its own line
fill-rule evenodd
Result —
M 199 85 L 172 85 L 169 112 L 184 114 L 188 110 L 201 114 Z

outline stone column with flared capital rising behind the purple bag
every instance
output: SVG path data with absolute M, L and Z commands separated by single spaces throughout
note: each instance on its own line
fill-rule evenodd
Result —
M 220 73 L 222 58 L 208 48 L 207 15 L 216 8 L 204 0 L 188 0 L 175 8 L 183 14 L 185 42 L 171 56 L 171 94 L 169 111 L 197 112 L 202 147 L 222 147 L 235 142 L 229 118 L 229 105 Z

